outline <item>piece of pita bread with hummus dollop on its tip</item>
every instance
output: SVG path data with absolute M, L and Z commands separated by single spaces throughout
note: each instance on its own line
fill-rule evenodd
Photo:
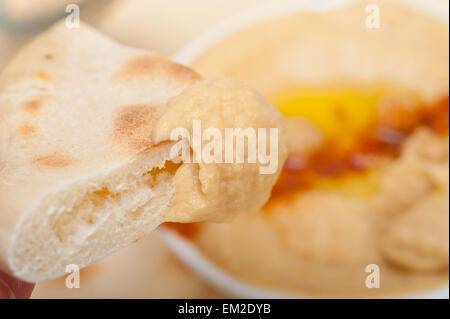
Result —
M 177 163 L 173 128 L 278 128 L 278 169 Z M 286 158 L 279 112 L 245 84 L 202 80 L 88 26 L 58 23 L 0 75 L 0 268 L 61 276 L 164 221 L 224 221 L 269 198 Z

